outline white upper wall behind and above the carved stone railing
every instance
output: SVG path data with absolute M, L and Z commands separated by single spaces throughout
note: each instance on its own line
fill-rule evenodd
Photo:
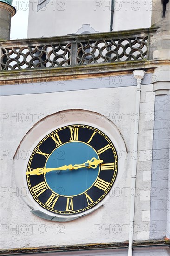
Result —
M 37 11 L 30 0 L 28 38 L 76 33 L 82 24 L 95 31 L 110 30 L 111 0 L 50 0 Z M 115 0 L 113 31 L 150 27 L 152 1 Z

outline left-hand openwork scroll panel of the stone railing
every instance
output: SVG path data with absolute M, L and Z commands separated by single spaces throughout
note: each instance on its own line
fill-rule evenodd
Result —
M 2 48 L 1 66 L 4 70 L 68 66 L 70 48 L 70 43 Z

